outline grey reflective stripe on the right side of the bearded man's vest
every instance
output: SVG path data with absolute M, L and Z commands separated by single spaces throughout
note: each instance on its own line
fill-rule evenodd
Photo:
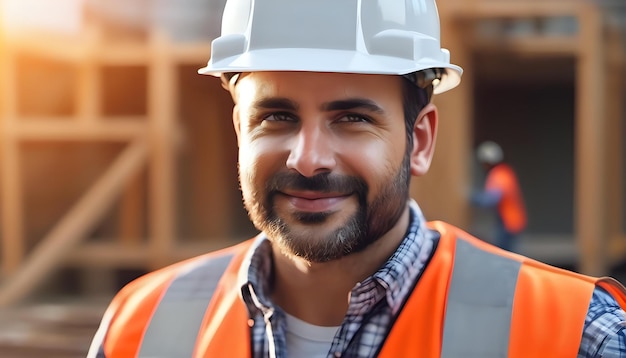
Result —
M 521 263 L 457 240 L 442 358 L 506 357 Z

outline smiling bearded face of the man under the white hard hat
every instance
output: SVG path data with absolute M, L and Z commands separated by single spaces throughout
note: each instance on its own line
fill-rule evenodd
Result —
M 235 87 L 239 180 L 252 222 L 287 254 L 358 252 L 406 208 L 398 76 L 255 72 Z

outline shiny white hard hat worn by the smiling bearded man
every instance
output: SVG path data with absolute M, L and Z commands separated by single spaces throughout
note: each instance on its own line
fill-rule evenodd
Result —
M 434 93 L 463 70 L 442 49 L 434 0 L 228 0 L 222 34 L 201 74 L 311 71 L 405 75 L 444 69 Z

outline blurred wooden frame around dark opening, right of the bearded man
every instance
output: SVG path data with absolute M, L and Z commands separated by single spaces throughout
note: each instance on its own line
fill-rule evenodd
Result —
M 621 225 L 624 210 L 621 145 L 625 138 L 620 133 L 623 132 L 624 106 L 619 97 L 624 93 L 626 50 L 622 40 L 616 36 L 607 37 L 603 9 L 597 2 L 587 0 L 441 0 L 438 4 L 441 17 L 446 19 L 442 22 L 442 42 L 454 50 L 454 61 L 465 68 L 471 69 L 471 52 L 484 46 L 499 46 L 507 51 L 535 56 L 560 54 L 577 60 L 574 235 L 580 253 L 579 270 L 592 275 L 607 274 L 612 262 L 623 260 L 626 254 L 626 236 Z M 520 36 L 493 42 L 473 37 L 467 31 L 468 24 L 480 19 L 562 16 L 576 19 L 576 34 Z M 610 75 L 607 69 L 612 71 Z M 445 128 L 444 124 L 442 132 L 447 136 L 444 141 L 450 145 L 444 155 L 449 160 L 443 161 L 442 167 L 435 166 L 433 171 L 445 172 L 445 175 L 429 174 L 432 180 L 449 181 L 443 185 L 445 188 L 462 188 L 470 180 L 465 159 L 466 153 L 472 151 L 469 124 L 473 121 L 473 81 L 472 74 L 466 72 L 460 88 L 440 98 L 459 104 L 455 108 L 440 108 L 443 108 L 443 117 L 454 118 L 454 126 L 461 126 L 453 129 Z M 425 185 L 425 191 L 432 195 L 430 193 L 436 190 L 436 186 L 434 182 L 430 184 Z M 456 204 L 457 211 L 450 220 L 469 224 L 468 207 L 460 202 L 459 193 L 439 194 L 440 202 Z M 446 217 L 443 208 L 438 210 L 441 211 L 436 216 Z

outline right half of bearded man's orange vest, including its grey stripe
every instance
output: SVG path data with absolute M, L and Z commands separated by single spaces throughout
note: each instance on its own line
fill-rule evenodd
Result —
M 439 244 L 380 357 L 576 356 L 597 279 L 429 226 Z

